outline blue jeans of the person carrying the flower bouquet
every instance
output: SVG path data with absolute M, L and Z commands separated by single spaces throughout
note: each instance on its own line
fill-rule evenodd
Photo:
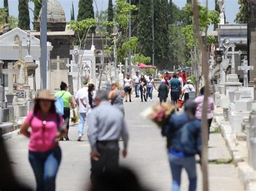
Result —
M 185 168 L 188 179 L 190 180 L 189 191 L 196 191 L 197 189 L 197 171 L 196 171 L 196 159 L 192 157 L 180 158 L 176 155 L 169 153 L 169 161 L 172 172 L 172 191 L 180 190 L 181 182 L 181 169 Z

